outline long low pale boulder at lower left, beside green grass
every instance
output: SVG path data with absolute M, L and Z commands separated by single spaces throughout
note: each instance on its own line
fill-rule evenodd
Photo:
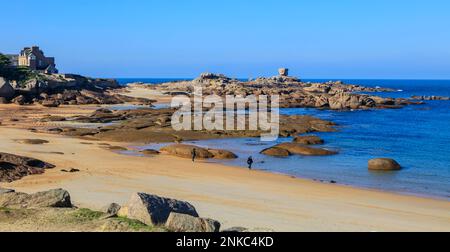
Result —
M 43 208 L 72 207 L 70 194 L 63 189 L 54 189 L 35 194 L 10 192 L 0 194 L 0 207 L 7 208 Z

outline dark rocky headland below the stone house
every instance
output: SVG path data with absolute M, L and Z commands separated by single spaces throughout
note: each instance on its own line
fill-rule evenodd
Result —
M 93 79 L 74 74 L 39 74 L 23 82 L 8 81 L 0 77 L 0 104 L 45 107 L 60 105 L 122 104 L 151 105 L 152 100 L 117 94 L 122 88 L 113 79 Z

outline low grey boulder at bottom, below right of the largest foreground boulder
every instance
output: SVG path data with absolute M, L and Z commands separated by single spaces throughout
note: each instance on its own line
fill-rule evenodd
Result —
M 172 232 L 219 232 L 220 222 L 172 212 L 167 219 L 166 228 Z

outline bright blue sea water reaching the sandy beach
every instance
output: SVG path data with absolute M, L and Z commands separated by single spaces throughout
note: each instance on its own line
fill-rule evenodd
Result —
M 164 81 L 167 80 L 154 79 L 152 83 Z M 401 90 L 376 94 L 386 97 L 450 96 L 450 81 L 446 80 L 344 81 Z M 234 151 L 239 155 L 238 159 L 221 161 L 229 165 L 244 167 L 247 157 L 253 156 L 255 168 L 260 170 L 314 180 L 336 181 L 357 187 L 450 199 L 450 101 L 426 101 L 424 105 L 412 105 L 402 109 L 345 112 L 282 109 L 281 113 L 313 115 L 337 123 L 338 132 L 317 135 L 325 140 L 324 148 L 338 150 L 339 154 L 328 157 L 267 157 L 259 152 L 276 143 L 264 143 L 253 138 L 193 143 L 212 148 L 224 146 Z M 277 142 L 291 140 L 284 138 Z M 368 171 L 368 160 L 378 157 L 394 158 L 404 169 L 387 173 Z

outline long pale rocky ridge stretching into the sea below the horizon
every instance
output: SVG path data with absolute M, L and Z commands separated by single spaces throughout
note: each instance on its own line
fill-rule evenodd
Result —
M 194 87 L 202 87 L 204 95 L 279 95 L 281 108 L 318 108 L 331 110 L 389 109 L 406 105 L 423 104 L 407 98 L 383 98 L 377 92 L 394 92 L 389 88 L 369 88 L 345 84 L 342 81 L 311 83 L 289 76 L 274 76 L 240 81 L 223 74 L 203 73 L 193 81 L 169 82 L 158 85 L 145 83 L 130 84 L 158 90 L 167 95 L 184 94 L 193 96 Z M 374 93 L 374 94 L 362 94 Z

